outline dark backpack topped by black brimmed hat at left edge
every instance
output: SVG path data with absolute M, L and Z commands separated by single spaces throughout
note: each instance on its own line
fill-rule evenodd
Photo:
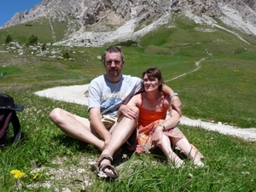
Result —
M 22 111 L 23 106 L 17 105 L 13 97 L 0 93 L 0 148 L 9 142 L 10 132 L 9 124 L 12 123 L 14 131 L 11 143 L 14 143 L 21 138 L 20 120 L 16 111 Z

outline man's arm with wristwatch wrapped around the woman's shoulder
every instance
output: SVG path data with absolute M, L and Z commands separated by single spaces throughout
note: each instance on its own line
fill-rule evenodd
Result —
M 182 103 L 178 98 L 178 96 L 174 95 L 174 91 L 166 84 L 163 84 L 162 92 L 166 94 L 166 96 L 172 96 L 171 98 L 172 108 L 175 108 L 177 113 L 179 113 L 179 115 L 182 116 L 182 110 L 181 110 Z M 170 112 L 172 112 L 172 110 Z

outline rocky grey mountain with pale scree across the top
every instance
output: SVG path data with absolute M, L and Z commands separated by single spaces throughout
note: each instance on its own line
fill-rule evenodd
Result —
M 29 11 L 16 13 L 1 28 L 44 21 L 50 26 L 55 44 L 102 46 L 114 41 L 137 41 L 176 15 L 210 28 L 232 33 L 230 29 L 235 29 L 256 36 L 254 0 L 44 0 Z M 66 25 L 61 39 L 54 37 L 56 22 Z

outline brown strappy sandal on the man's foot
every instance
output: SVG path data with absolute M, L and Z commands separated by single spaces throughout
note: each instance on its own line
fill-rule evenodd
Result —
M 109 160 L 110 164 L 109 163 L 102 164 L 103 160 Z M 112 165 L 113 165 L 113 159 L 108 154 L 102 154 L 97 158 L 96 164 L 91 167 L 91 170 L 95 171 L 97 175 L 103 172 L 105 175 L 107 175 L 108 178 L 114 179 L 118 177 L 118 174 L 115 171 L 114 166 Z M 110 169 L 113 172 L 113 174 L 104 172 L 105 169 Z

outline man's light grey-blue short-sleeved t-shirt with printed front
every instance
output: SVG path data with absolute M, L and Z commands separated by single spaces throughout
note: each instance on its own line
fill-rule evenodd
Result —
M 106 74 L 101 75 L 90 82 L 88 110 L 100 108 L 102 114 L 116 116 L 119 107 L 142 90 L 142 84 L 142 79 L 130 75 L 122 75 L 114 84 L 108 81 Z

